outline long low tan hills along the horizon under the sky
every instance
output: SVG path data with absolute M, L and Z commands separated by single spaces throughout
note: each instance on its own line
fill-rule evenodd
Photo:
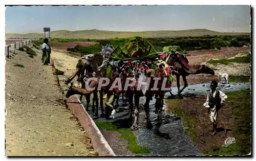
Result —
M 236 32 L 217 32 L 207 29 L 191 29 L 180 31 L 143 31 L 143 32 L 122 32 L 122 31 L 104 31 L 104 30 L 80 30 L 80 31 L 68 31 L 58 30 L 52 31 L 50 37 L 54 38 L 90 38 L 90 39 L 109 39 L 109 38 L 127 38 L 134 36 L 141 37 L 195 37 L 195 36 L 216 36 L 216 35 L 250 35 L 250 33 L 236 33 Z M 44 37 L 44 34 L 40 33 L 28 33 L 28 34 L 6 34 L 6 38 L 10 37 Z

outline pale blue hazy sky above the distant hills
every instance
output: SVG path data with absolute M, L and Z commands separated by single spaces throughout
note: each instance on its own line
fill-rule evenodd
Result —
M 6 7 L 6 33 L 54 30 L 156 31 L 209 29 L 250 32 L 249 6 Z

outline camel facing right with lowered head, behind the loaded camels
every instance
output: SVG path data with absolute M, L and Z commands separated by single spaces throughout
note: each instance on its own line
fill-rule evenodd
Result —
M 180 54 L 177 54 L 177 55 L 179 55 L 179 57 L 182 57 Z M 183 58 L 183 60 L 184 59 L 186 59 L 186 58 Z M 187 60 L 184 60 L 184 61 L 186 61 L 185 63 L 188 63 Z M 210 74 L 213 76 L 215 75 L 214 70 L 212 70 L 210 67 L 208 67 L 204 64 L 203 65 L 195 65 L 193 68 L 193 71 L 191 72 L 190 71 L 191 68 L 187 67 L 189 65 L 187 64 L 187 66 L 185 66 L 182 63 L 177 62 L 175 55 L 169 55 L 165 62 L 169 66 L 173 66 L 174 71 L 177 71 L 177 72 L 174 72 L 173 75 L 175 75 L 176 79 L 177 79 L 177 88 L 178 88 L 179 98 L 182 98 L 181 93 L 188 86 L 187 79 L 186 79 L 187 76 L 197 75 L 197 74 Z M 184 82 L 184 86 L 181 90 L 180 90 L 180 76 L 182 76 L 183 82 Z M 175 97 L 175 95 L 173 95 L 171 91 L 169 91 L 169 93 L 172 97 Z

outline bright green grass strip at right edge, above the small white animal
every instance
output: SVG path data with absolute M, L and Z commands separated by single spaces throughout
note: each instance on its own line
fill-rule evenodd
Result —
M 208 60 L 209 63 L 211 64 L 229 64 L 229 63 L 250 63 L 251 62 L 251 54 L 247 54 L 246 56 L 242 57 L 235 57 L 233 59 L 210 59 Z

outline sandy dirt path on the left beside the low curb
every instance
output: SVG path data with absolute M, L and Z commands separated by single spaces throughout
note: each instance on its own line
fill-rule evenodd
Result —
M 42 65 L 37 54 L 6 58 L 6 155 L 96 155 L 86 131 L 61 103 L 52 66 Z

